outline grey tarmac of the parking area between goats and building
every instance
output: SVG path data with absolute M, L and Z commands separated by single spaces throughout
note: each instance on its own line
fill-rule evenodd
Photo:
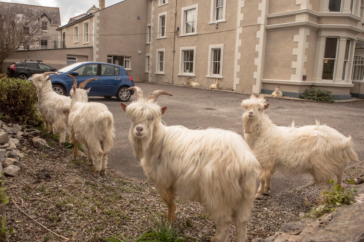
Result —
M 209 127 L 222 128 L 242 132 L 243 109 L 240 101 L 250 95 L 232 91 L 209 90 L 184 86 L 161 85 L 154 83 L 135 82 L 145 96 L 151 91 L 165 90 L 173 95 L 161 95 L 157 103 L 167 106 L 162 116 L 167 126 L 182 125 L 190 129 L 205 129 Z M 359 102 L 314 103 L 293 101 L 278 98 L 268 98 L 269 108 L 265 111 L 269 118 L 279 126 L 290 126 L 294 120 L 295 126 L 314 125 L 315 120 L 335 128 L 345 136 L 352 136 L 354 150 L 359 160 L 364 160 L 364 100 Z M 135 100 L 133 95 L 129 102 Z M 114 115 L 116 138 L 114 148 L 108 155 L 108 169 L 113 169 L 122 176 L 139 180 L 147 180 L 139 161 L 133 156 L 128 140 L 130 121 L 120 107 L 116 98 L 90 97 L 90 102 L 101 102 L 107 105 Z M 349 165 L 354 164 L 350 162 Z M 272 177 L 272 188 L 291 190 L 312 181 L 310 175 L 290 176 L 277 172 Z M 277 191 L 278 189 L 273 189 Z

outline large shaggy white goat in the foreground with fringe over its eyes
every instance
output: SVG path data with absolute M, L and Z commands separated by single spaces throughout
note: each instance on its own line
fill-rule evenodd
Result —
M 220 129 L 189 130 L 161 122 L 167 107 L 155 103 L 157 90 L 147 99 L 139 87 L 136 101 L 120 103 L 131 119 L 129 140 L 134 156 L 167 204 L 167 220 L 174 222 L 175 196 L 200 202 L 217 223 L 211 241 L 223 242 L 229 226 L 236 226 L 236 241 L 244 242 L 260 167 L 242 136 Z

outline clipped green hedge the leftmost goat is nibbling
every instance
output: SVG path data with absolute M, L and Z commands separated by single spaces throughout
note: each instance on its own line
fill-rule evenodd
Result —
M 4 122 L 41 126 L 37 94 L 28 80 L 0 74 L 0 118 Z

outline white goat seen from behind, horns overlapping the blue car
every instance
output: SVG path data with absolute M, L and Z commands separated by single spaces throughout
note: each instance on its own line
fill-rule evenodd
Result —
M 90 89 L 83 90 L 90 81 L 98 78 L 87 79 L 76 89 L 76 78 L 70 91 L 72 96 L 71 111 L 68 118 L 70 128 L 70 142 L 74 144 L 72 160 L 77 159 L 78 144 L 84 143 L 88 150 L 88 164 L 94 164 L 94 177 L 106 174 L 107 154 L 110 152 L 115 134 L 114 119 L 111 112 L 103 103 L 88 102 L 87 93 Z

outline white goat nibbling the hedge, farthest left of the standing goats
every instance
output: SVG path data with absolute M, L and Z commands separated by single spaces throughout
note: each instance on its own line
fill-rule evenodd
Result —
M 56 74 L 45 72 L 32 75 L 33 86 L 38 94 L 38 108 L 43 122 L 46 123 L 46 132 L 54 134 L 53 124 L 59 133 L 59 146 L 63 147 L 66 141 L 66 127 L 68 114 L 71 108 L 71 98 L 59 95 L 52 89 L 51 77 L 47 75 Z

